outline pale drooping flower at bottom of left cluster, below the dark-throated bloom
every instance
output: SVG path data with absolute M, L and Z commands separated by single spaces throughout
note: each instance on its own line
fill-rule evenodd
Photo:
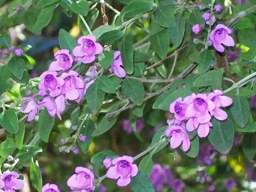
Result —
M 43 97 L 43 100 L 38 103 L 40 107 L 46 107 L 51 117 L 55 117 L 55 115 L 57 115 L 57 117 L 61 119 L 61 115 L 59 113 L 65 110 L 65 98 L 63 95 L 59 95 L 55 100 L 49 96 Z

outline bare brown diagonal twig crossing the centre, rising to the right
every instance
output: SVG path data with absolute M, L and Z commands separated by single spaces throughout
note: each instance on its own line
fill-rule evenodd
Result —
M 195 69 L 195 67 L 197 67 L 197 63 L 192 63 L 191 65 L 189 65 L 189 67 L 187 67 L 187 69 L 185 69 L 181 74 L 179 74 L 179 76 L 175 77 L 173 79 L 173 81 L 175 81 L 176 79 L 181 79 L 181 78 L 185 79 L 185 77 L 187 77 L 187 75 L 189 75 Z M 171 83 L 169 83 L 168 85 L 165 85 L 165 87 L 163 87 L 162 89 L 159 89 L 159 91 L 157 91 L 155 93 L 151 93 L 149 96 L 145 97 L 143 99 L 143 101 L 147 101 L 147 100 L 151 99 L 152 97 L 154 97 L 155 95 L 159 95 L 159 94 L 163 93 L 164 91 L 166 91 L 167 89 L 170 89 L 173 81 L 171 81 Z M 115 114 L 121 113 L 122 111 L 125 111 L 126 109 L 131 109 L 135 106 L 136 105 L 134 103 L 132 103 L 131 105 L 128 105 L 127 107 L 123 107 L 117 111 L 107 113 L 106 117 L 112 117 Z

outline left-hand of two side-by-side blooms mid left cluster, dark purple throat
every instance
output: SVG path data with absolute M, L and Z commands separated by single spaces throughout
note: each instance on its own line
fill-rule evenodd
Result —
M 61 94 L 61 86 L 64 85 L 65 81 L 57 77 L 57 72 L 45 71 L 40 75 L 40 78 L 42 81 L 39 83 L 39 95 L 43 97 L 49 93 L 51 97 L 57 97 Z

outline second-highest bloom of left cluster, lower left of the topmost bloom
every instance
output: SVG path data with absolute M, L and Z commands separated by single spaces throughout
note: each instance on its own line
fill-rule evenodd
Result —
M 53 61 L 49 67 L 50 71 L 66 71 L 72 67 L 73 58 L 69 50 L 62 49 L 54 53 L 56 61 Z

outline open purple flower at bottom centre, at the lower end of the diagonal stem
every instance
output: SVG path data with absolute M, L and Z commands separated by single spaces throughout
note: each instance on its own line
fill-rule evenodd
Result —
M 125 187 L 131 182 L 131 177 L 135 177 L 138 173 L 137 165 L 133 164 L 133 157 L 124 155 L 112 159 L 113 167 L 107 170 L 107 177 L 110 179 L 118 179 L 117 185 Z

